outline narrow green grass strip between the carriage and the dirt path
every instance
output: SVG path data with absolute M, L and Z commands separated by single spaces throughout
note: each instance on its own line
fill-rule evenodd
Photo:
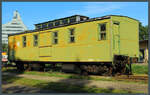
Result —
M 11 67 L 10 67 L 11 68 Z M 3 70 L 3 72 L 11 72 L 16 74 L 28 74 L 28 75 L 38 75 L 38 76 L 47 76 L 47 77 L 60 77 L 64 79 L 86 79 L 86 80 L 95 80 L 95 81 L 114 81 L 114 82 L 124 82 L 124 83 L 139 83 L 139 84 L 147 84 L 145 81 L 129 81 L 129 80 L 120 80 L 115 79 L 113 77 L 99 77 L 99 76 L 81 76 L 78 74 L 70 74 L 63 72 L 38 72 L 38 71 L 25 71 L 25 72 L 17 72 L 13 69 Z

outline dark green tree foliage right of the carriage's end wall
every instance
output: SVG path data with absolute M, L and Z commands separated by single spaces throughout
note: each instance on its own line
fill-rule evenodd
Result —
M 139 40 L 148 39 L 148 26 L 143 26 L 141 23 L 139 24 Z

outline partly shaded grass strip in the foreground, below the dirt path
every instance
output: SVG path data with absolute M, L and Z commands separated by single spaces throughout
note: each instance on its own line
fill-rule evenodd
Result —
M 142 92 L 133 92 L 127 90 L 118 90 L 118 89 L 104 89 L 104 88 L 96 88 L 96 87 L 87 87 L 85 85 L 68 85 L 61 82 L 46 82 L 42 80 L 33 80 L 27 78 L 17 78 L 10 76 L 3 76 L 3 81 L 12 82 L 19 85 L 26 85 L 30 87 L 37 87 L 44 90 L 52 90 L 58 93 L 142 93 Z

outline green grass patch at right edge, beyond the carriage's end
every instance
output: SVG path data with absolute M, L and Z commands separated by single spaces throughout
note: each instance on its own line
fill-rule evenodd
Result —
M 133 74 L 147 74 L 148 75 L 148 65 L 132 64 Z

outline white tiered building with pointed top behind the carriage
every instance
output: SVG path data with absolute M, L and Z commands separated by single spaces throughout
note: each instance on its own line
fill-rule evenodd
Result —
M 18 11 L 14 11 L 12 21 L 2 25 L 2 43 L 8 43 L 8 34 L 20 33 L 27 30 Z

